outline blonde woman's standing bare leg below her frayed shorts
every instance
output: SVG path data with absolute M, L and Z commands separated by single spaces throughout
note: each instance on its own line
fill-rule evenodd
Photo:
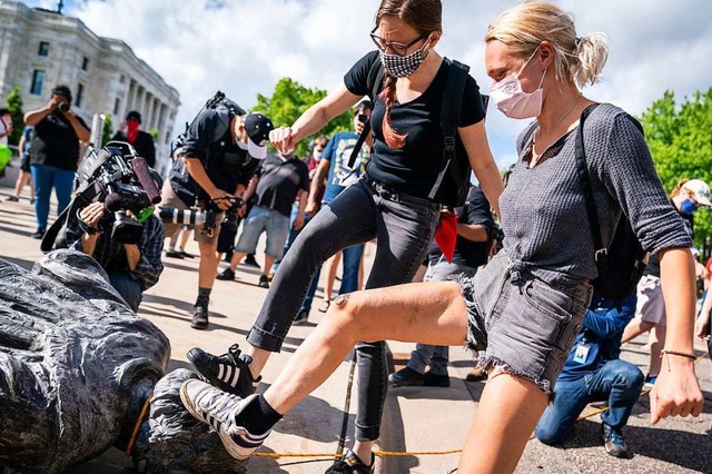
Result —
M 457 472 L 512 473 L 548 395 L 530 381 L 494 375 L 482 394 Z

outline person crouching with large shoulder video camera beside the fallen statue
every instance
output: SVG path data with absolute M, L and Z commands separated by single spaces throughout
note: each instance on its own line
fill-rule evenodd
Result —
M 102 231 L 100 223 L 106 211 L 103 203 L 81 209 L 78 219 L 72 219 L 67 228 L 67 243 L 69 248 L 92 256 L 107 271 L 111 286 L 137 312 L 144 292 L 164 271 L 160 260 L 166 238 L 164 225 L 151 215 L 142 223 L 144 234 L 137 244 L 121 244 L 111 238 L 110 231 Z

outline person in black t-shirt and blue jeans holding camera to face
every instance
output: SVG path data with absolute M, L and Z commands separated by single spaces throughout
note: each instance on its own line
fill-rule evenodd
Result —
M 24 124 L 34 127 L 34 139 L 30 145 L 30 170 L 37 197 L 37 231 L 32 237 L 41 239 L 47 229 L 52 188 L 57 194 L 58 215 L 71 199 L 79 162 L 79 141 L 89 141 L 89 128 L 71 110 L 71 91 L 67 86 L 55 87 L 44 107 L 24 115 Z

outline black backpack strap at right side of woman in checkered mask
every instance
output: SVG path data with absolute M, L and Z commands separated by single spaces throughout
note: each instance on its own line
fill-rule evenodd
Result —
M 435 195 L 443 185 L 445 175 L 449 171 L 455 189 L 461 189 L 463 177 L 457 169 L 457 154 L 455 142 L 457 137 L 457 127 L 459 126 L 459 112 L 463 107 L 463 96 L 465 93 L 465 82 L 469 72 L 469 66 L 455 61 L 454 59 L 445 59 L 447 61 L 447 79 L 445 81 L 446 93 L 443 95 L 443 108 L 441 110 L 441 128 L 443 129 L 443 161 L 445 167 L 437 175 L 435 185 L 431 189 L 428 198 L 435 199 Z

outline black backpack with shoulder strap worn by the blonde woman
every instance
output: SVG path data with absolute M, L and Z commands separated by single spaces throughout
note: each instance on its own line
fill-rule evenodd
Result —
M 586 154 L 583 145 L 583 124 L 589 115 L 599 106 L 594 103 L 586 107 L 581 113 L 578 131 L 576 135 L 575 155 L 576 170 L 583 186 L 583 195 L 586 200 L 586 216 L 591 227 L 593 245 L 596 249 L 595 260 L 599 269 L 599 277 L 591 284 L 594 288 L 594 296 L 612 299 L 619 306 L 620 303 L 635 293 L 637 283 L 645 269 L 645 257 L 647 253 L 641 246 L 637 236 L 631 227 L 627 217 L 622 214 L 619 225 L 615 228 L 613 240 L 606 248 L 601 239 L 601 227 L 599 225 L 599 213 L 591 188 L 591 177 L 586 166 Z M 632 116 L 627 118 L 643 134 L 643 127 Z

